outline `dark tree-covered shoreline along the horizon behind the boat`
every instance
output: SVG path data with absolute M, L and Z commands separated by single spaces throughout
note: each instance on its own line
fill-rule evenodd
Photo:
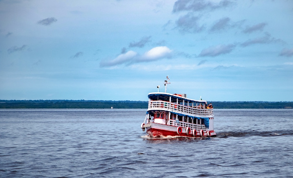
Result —
M 292 101 L 210 101 L 215 109 L 292 109 Z M 112 100 L 0 100 L 0 109 L 81 108 L 146 109 L 147 101 Z

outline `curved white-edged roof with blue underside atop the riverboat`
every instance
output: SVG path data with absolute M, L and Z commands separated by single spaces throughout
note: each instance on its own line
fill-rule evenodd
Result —
M 176 102 L 178 98 L 178 102 L 189 101 L 189 102 L 198 102 L 198 103 L 206 103 L 206 100 L 196 100 L 196 99 L 188 99 L 179 95 L 174 95 L 170 93 L 163 93 L 163 92 L 153 92 L 149 93 L 147 96 L 149 99 L 158 99 L 158 100 L 165 100 L 169 101 L 169 97 L 171 97 L 171 102 Z

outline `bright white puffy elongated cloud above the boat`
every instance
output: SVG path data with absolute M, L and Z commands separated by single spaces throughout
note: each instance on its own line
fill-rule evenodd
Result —
M 167 46 L 154 47 L 143 55 L 139 55 L 134 51 L 127 51 L 125 54 L 120 54 L 115 59 L 102 60 L 100 62 L 100 67 L 110 67 L 120 64 L 131 64 L 138 62 L 150 62 L 159 59 L 170 58 L 171 55 L 172 50 L 170 50 Z

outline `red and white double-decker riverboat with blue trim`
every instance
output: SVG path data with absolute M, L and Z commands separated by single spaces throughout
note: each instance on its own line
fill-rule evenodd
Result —
M 165 80 L 165 92 L 148 94 L 146 118 L 141 124 L 150 138 L 215 137 L 213 130 L 213 106 L 206 100 L 188 99 L 186 94 L 169 94 Z

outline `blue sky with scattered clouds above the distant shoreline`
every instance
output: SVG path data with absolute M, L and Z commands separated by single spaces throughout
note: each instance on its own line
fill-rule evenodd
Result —
M 293 101 L 293 0 L 0 0 L 0 99 Z

